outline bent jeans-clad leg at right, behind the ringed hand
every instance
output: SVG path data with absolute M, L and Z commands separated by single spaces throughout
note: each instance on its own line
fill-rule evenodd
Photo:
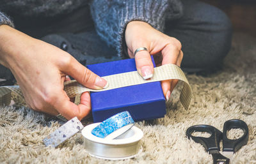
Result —
M 165 34 L 182 43 L 185 71 L 216 70 L 227 56 L 232 24 L 223 11 L 196 0 L 184 0 L 184 15 L 166 22 Z

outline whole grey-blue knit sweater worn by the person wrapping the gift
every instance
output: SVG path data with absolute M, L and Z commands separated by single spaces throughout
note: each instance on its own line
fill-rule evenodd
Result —
M 109 46 L 116 48 L 119 56 L 124 54 L 124 31 L 130 21 L 141 20 L 163 31 L 166 19 L 178 19 L 182 15 L 180 0 L 0 0 L 0 26 L 14 27 L 15 24 L 4 13 L 54 17 L 71 13 L 85 4 L 90 4 L 97 33 Z

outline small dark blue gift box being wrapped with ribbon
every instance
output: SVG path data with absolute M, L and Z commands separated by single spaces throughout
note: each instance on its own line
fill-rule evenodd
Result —
M 152 62 L 155 66 L 154 59 Z M 134 59 L 92 64 L 87 68 L 100 77 L 136 71 Z M 134 121 L 155 119 L 166 114 L 165 98 L 161 82 L 150 82 L 136 86 L 122 87 L 109 91 L 91 92 L 93 122 L 102 122 L 125 110 Z

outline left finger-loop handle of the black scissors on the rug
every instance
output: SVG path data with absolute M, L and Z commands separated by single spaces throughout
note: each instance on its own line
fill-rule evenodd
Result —
M 210 133 L 211 136 L 209 138 L 195 137 L 191 135 L 194 131 L 207 132 Z M 209 153 L 217 153 L 220 151 L 220 140 L 222 138 L 222 133 L 220 130 L 214 128 L 211 125 L 198 124 L 191 126 L 186 131 L 186 135 L 188 138 L 192 138 L 195 142 L 204 145 L 204 148 Z

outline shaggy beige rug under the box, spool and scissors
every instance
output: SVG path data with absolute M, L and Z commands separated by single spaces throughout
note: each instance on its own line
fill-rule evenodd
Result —
M 222 71 L 207 77 L 187 75 L 194 93 L 189 110 L 178 100 L 179 84 L 164 118 L 136 123 L 144 132 L 143 151 L 136 158 L 93 158 L 85 152 L 81 133 L 58 149 L 45 147 L 42 139 L 60 123 L 24 107 L 4 107 L 0 108 L 0 163 L 212 163 L 211 155 L 188 140 L 185 131 L 194 124 L 211 124 L 222 131 L 228 119 L 242 119 L 250 131 L 248 144 L 234 154 L 232 163 L 256 163 L 255 45 L 256 38 L 235 34 Z M 230 130 L 229 135 L 237 137 L 241 131 Z

